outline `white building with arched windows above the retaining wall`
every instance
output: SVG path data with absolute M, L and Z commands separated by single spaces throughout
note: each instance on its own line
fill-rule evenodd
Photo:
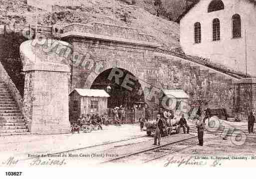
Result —
M 197 0 L 178 21 L 186 54 L 256 76 L 256 0 Z

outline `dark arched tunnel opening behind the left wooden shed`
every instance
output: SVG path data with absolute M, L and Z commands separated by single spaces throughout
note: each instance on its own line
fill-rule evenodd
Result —
M 115 75 L 118 76 L 118 79 Z M 111 89 L 107 89 L 107 87 Z M 120 105 L 132 108 L 135 104 L 139 105 L 145 102 L 139 80 L 123 68 L 104 70 L 95 78 L 90 88 L 104 89 L 109 93 L 108 108 L 119 107 Z

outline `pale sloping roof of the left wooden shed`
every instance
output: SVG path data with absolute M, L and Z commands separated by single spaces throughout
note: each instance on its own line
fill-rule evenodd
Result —
M 88 96 L 88 97 L 110 97 L 109 94 L 105 90 L 99 89 L 81 89 L 75 88 L 73 91 L 76 91 L 80 96 Z M 72 92 L 73 92 L 72 91 Z M 71 92 L 71 93 L 72 93 Z M 71 94 L 69 93 L 69 95 Z

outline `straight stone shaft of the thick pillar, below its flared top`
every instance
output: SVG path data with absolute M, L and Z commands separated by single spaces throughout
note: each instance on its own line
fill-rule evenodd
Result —
M 69 132 L 68 74 L 30 71 L 25 77 L 24 108 L 31 133 L 60 134 Z M 63 116 L 65 114 L 65 116 Z M 32 119 L 33 117 L 33 119 Z

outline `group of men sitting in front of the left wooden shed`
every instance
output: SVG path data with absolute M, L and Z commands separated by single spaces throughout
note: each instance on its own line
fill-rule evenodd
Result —
M 93 114 L 92 116 L 90 114 L 87 114 L 87 116 L 80 116 L 77 119 L 77 123 L 74 123 L 71 127 L 71 132 L 78 132 L 82 128 L 85 132 L 91 132 L 93 127 L 102 129 L 102 124 L 108 125 L 109 121 L 107 118 L 104 117 L 104 115 L 99 116 L 97 113 Z

